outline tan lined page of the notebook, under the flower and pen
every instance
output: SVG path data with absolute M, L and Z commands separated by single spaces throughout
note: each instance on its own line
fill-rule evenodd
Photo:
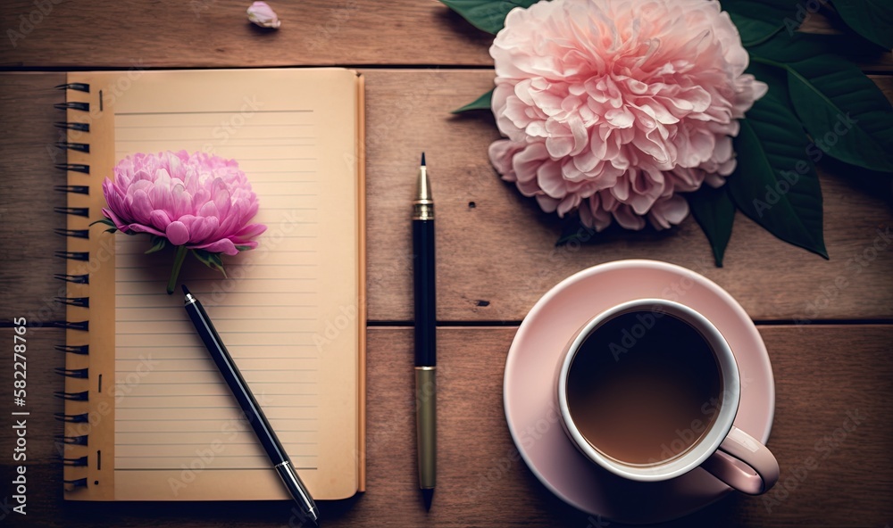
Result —
M 355 84 L 348 72 L 333 77 L 337 86 L 309 72 L 147 73 L 115 103 L 114 143 L 116 161 L 204 151 L 246 172 L 260 202 L 253 221 L 268 227 L 259 248 L 224 257 L 228 278 L 188 256 L 180 282 L 204 304 L 293 464 L 322 498 L 356 487 L 355 128 L 351 112 L 335 108 L 352 100 L 338 95 L 354 97 Z M 278 498 L 271 462 L 182 294 L 164 292 L 172 252 L 146 255 L 147 248 L 145 235 L 115 235 L 115 379 L 128 389 L 115 403 L 116 490 L 137 492 L 135 475 L 151 475 L 160 487 L 154 495 L 219 499 L 216 475 L 225 474 L 237 491 L 263 483 L 274 493 L 268 498 Z

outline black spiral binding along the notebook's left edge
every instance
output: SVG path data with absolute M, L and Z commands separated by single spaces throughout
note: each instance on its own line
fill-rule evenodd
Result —
M 59 85 L 56 87 L 60 90 L 74 90 L 75 92 L 83 92 L 88 94 L 90 92 L 90 86 L 87 83 L 67 83 L 63 85 Z M 62 111 L 90 111 L 90 103 L 79 102 L 79 101 L 67 101 L 65 103 L 59 103 L 54 105 L 55 108 Z M 81 134 L 90 132 L 89 123 L 84 122 L 76 122 L 71 120 L 63 120 L 54 123 L 56 128 L 60 128 L 62 130 L 69 132 L 69 137 L 66 141 L 60 141 L 55 144 L 55 146 L 61 149 L 63 152 L 76 152 L 76 153 L 89 153 L 90 152 L 90 144 L 84 142 L 80 136 Z M 66 174 L 70 172 L 77 172 L 80 174 L 90 174 L 90 166 L 86 163 L 56 163 L 55 168 L 59 170 L 63 170 Z M 54 186 L 54 190 L 60 193 L 68 193 L 68 194 L 89 194 L 90 189 L 89 186 L 85 185 L 58 185 Z M 90 210 L 88 207 L 54 207 L 54 211 L 63 214 L 63 215 L 71 215 L 82 218 L 89 218 Z M 55 233 L 57 235 L 69 236 L 74 238 L 89 238 L 89 230 L 88 229 L 55 229 Z M 65 260 L 76 260 L 80 262 L 87 262 L 90 258 L 89 252 L 72 252 L 72 251 L 60 251 L 54 253 L 56 257 Z M 74 285 L 88 285 L 90 282 L 89 274 L 55 274 L 54 277 L 58 280 L 65 281 L 66 283 L 74 284 Z M 69 297 L 56 297 L 56 302 L 66 306 L 73 306 L 77 308 L 89 308 L 90 300 L 89 297 L 82 296 L 69 296 Z M 65 328 L 66 330 L 79 330 L 83 332 L 88 332 L 89 330 L 89 321 L 64 321 L 64 322 L 56 322 L 54 326 Z M 55 350 L 65 352 L 66 354 L 75 354 L 79 356 L 86 356 L 89 353 L 89 345 L 88 344 L 61 344 L 56 345 Z M 89 378 L 89 369 L 88 368 L 68 368 L 68 367 L 58 367 L 55 369 L 55 373 L 58 375 L 63 375 L 69 378 L 77 378 L 77 379 L 88 379 Z M 71 392 L 70 385 L 66 384 L 66 391 L 64 392 L 54 392 L 54 396 L 56 398 L 61 398 L 67 401 L 88 401 L 90 397 L 89 391 L 77 391 Z M 59 421 L 62 421 L 66 424 L 88 424 L 89 423 L 89 413 L 72 413 L 71 408 L 68 406 L 68 403 L 65 404 L 65 412 L 57 413 L 55 418 Z M 56 437 L 56 441 L 59 441 L 63 444 L 69 446 L 87 446 L 88 445 L 88 434 L 78 434 L 78 435 L 68 435 L 68 431 L 63 433 L 61 436 Z M 71 457 L 71 458 L 62 458 L 63 466 L 72 466 L 72 467 L 86 467 L 88 466 L 88 457 Z M 67 471 L 67 470 L 66 470 Z M 65 474 L 65 476 L 70 476 L 69 474 Z M 87 487 L 88 479 L 87 478 L 76 478 L 76 479 L 64 479 L 65 487 L 67 490 L 73 490 L 75 488 Z

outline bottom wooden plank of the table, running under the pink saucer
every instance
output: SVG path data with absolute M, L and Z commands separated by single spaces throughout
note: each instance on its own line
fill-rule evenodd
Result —
M 893 517 L 893 326 L 761 326 L 777 385 L 769 446 L 780 460 L 787 497 L 732 495 L 667 524 L 711 526 L 877 525 Z M 425 513 L 416 489 L 411 329 L 369 330 L 368 491 L 321 503 L 327 526 L 569 526 L 593 524 L 538 483 L 516 459 L 505 425 L 502 380 L 512 327 L 438 329 L 438 490 Z M 0 329 L 0 342 L 12 342 Z M 42 357 L 62 334 L 29 331 L 29 353 Z M 34 356 L 32 356 L 33 358 Z M 50 355 L 50 358 L 54 356 Z M 62 468 L 52 462 L 57 433 L 49 397 L 61 359 L 29 362 L 29 518 L 41 526 L 256 526 L 289 525 L 287 503 L 63 503 Z M 12 367 L 10 364 L 9 367 Z M 12 382 L 4 368 L 3 384 Z M 11 400 L 2 408 L 13 410 Z M 847 416 L 864 422 L 841 438 Z M 837 440 L 834 435 L 837 434 Z M 829 441 L 827 438 L 831 438 Z M 0 427 L 0 444 L 13 430 Z M 832 447 L 833 446 L 833 447 Z M 809 462 L 817 460 L 816 464 Z M 12 479 L 5 458 L 0 478 Z M 780 490 L 780 489 L 779 489 Z M 12 500 L 12 499 L 10 499 Z M 8 504 L 8 503 L 7 503 Z M 0 517 L 5 512 L 0 512 Z M 11 515 L 15 519 L 15 514 Z M 603 520 L 605 521 L 605 520 Z M 593 524 L 597 525 L 597 524 Z M 612 524 L 618 525 L 618 524 Z

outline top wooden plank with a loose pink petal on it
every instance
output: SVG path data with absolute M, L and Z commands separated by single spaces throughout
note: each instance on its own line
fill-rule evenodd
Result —
M 161 0 L 135 12 L 121 2 L 7 0 L 0 4 L 0 66 L 28 68 L 231 68 L 331 64 L 491 66 L 493 37 L 439 2 L 375 0 L 273 3 L 282 27 L 255 28 L 249 2 Z M 140 15 L 152 23 L 138 23 Z M 804 30 L 839 32 L 821 13 Z M 870 71 L 893 58 L 866 48 Z

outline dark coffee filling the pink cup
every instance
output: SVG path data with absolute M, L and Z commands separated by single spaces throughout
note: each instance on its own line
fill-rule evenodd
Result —
M 690 450 L 713 425 L 722 375 L 709 343 L 662 311 L 617 315 L 580 345 L 567 377 L 568 409 L 608 458 L 651 465 Z

